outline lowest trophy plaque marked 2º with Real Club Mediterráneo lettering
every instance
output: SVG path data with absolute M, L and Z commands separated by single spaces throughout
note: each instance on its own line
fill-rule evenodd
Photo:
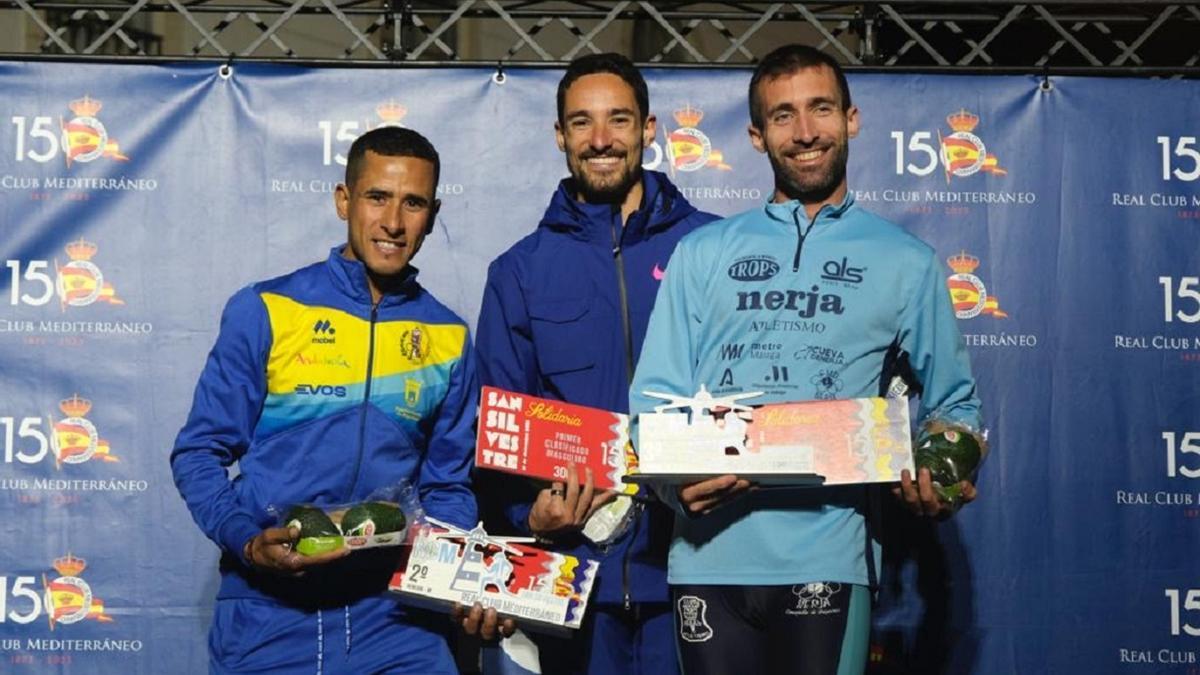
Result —
M 580 627 L 598 562 L 530 546 L 530 538 L 491 537 L 482 524 L 467 531 L 428 520 L 389 591 L 446 611 L 478 602 L 522 628 Z

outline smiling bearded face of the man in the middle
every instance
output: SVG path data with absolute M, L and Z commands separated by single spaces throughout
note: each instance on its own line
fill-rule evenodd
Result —
M 642 149 L 654 142 L 654 115 L 642 119 L 634 88 L 612 73 L 586 74 L 566 90 L 554 124 L 558 149 L 584 202 L 634 208 L 642 199 Z

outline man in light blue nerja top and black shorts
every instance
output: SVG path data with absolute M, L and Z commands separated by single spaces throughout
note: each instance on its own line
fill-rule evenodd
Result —
M 934 250 L 854 204 L 858 109 L 836 61 L 802 46 L 750 83 L 750 141 L 774 198 L 685 237 L 650 316 L 644 392 L 764 392 L 755 402 L 880 396 L 901 371 L 919 418 L 978 428 L 979 400 Z M 964 485 L 967 501 L 973 485 Z M 937 515 L 929 472 L 895 490 Z M 737 476 L 660 488 L 676 509 L 668 583 L 689 675 L 862 673 L 878 546 L 869 489 L 755 490 Z

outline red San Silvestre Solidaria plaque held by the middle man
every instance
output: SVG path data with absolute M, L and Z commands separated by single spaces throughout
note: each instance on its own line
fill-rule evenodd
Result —
M 575 462 L 580 482 L 592 468 L 596 490 L 630 492 L 620 479 L 636 458 L 629 416 L 484 387 L 475 466 L 544 480 L 565 480 Z

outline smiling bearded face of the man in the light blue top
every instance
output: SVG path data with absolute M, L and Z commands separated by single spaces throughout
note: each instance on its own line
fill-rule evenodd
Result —
M 799 199 L 810 217 L 824 204 L 840 203 L 858 108 L 842 109 L 833 70 L 805 67 L 766 78 L 758 95 L 762 129 L 750 125 L 750 142 L 770 159 L 775 202 Z

